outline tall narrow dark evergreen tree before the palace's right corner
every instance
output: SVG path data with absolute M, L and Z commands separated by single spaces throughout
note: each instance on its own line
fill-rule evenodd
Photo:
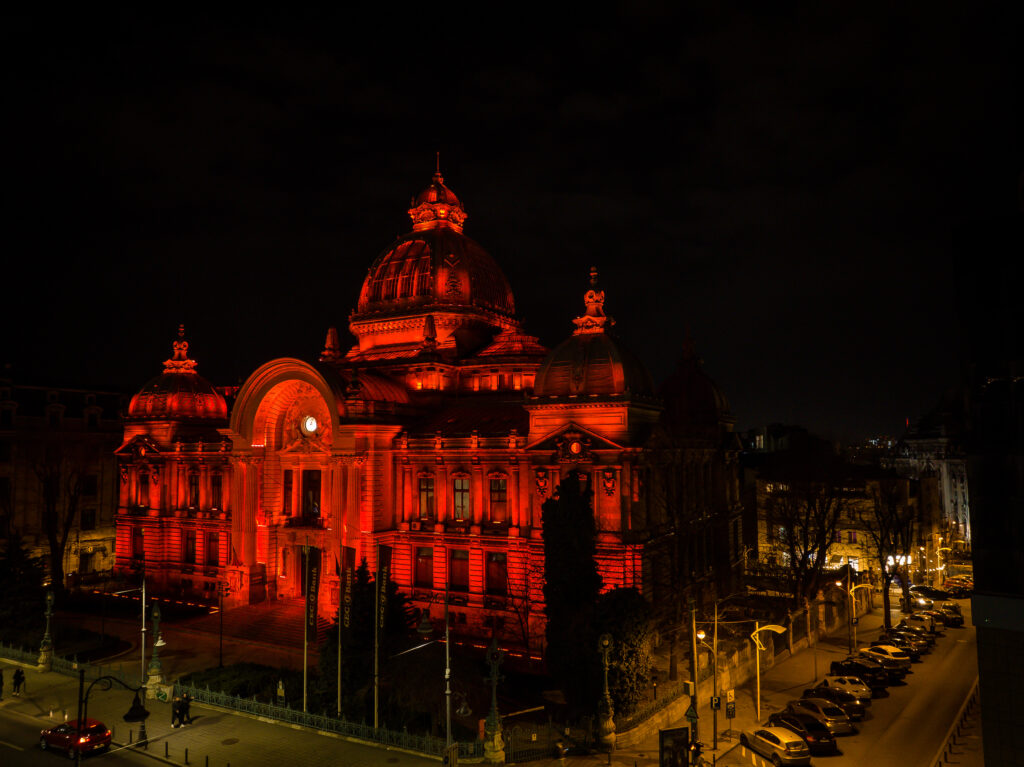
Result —
M 601 591 L 594 558 L 597 525 L 590 481 L 583 476 L 570 472 L 541 515 L 548 669 L 577 715 L 594 710 L 601 689 L 594 622 Z

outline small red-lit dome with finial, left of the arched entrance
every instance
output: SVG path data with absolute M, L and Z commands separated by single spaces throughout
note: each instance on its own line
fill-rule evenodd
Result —
M 223 420 L 227 401 L 209 381 L 196 373 L 188 358 L 184 326 L 178 328 L 174 355 L 164 363 L 163 374 L 145 384 L 128 404 L 129 418 Z

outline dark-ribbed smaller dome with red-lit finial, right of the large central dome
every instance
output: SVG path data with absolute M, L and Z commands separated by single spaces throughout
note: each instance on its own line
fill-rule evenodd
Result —
M 587 310 L 572 321 L 575 331 L 552 350 L 541 365 L 534 384 L 536 396 L 615 395 L 654 393 L 643 363 L 606 327 L 614 324 L 604 313 L 604 291 L 597 290 L 597 269 L 590 270 Z

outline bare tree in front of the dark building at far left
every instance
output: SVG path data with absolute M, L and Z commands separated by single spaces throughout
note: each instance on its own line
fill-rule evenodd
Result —
M 65 551 L 82 499 L 81 461 L 69 445 L 54 441 L 42 446 L 33 470 L 39 479 L 42 526 L 50 550 L 50 581 L 63 592 Z

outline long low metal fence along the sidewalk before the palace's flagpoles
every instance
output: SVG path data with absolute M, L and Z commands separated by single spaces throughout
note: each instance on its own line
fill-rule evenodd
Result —
M 372 727 L 367 724 L 349 722 L 346 719 L 337 719 L 325 714 L 310 714 L 308 712 L 297 711 L 290 706 L 278 706 L 267 704 L 255 698 L 239 697 L 228 695 L 226 692 L 211 690 L 209 687 L 193 687 L 187 684 L 175 684 L 174 694 L 188 694 L 193 700 L 199 704 L 216 706 L 228 711 L 241 714 L 270 719 L 275 722 L 295 724 L 301 727 L 310 727 L 323 732 L 333 732 L 344 737 L 352 737 L 358 740 L 390 745 L 407 751 L 415 751 L 420 754 L 440 757 L 444 753 L 444 738 L 433 737 L 432 735 L 414 735 L 409 732 L 397 732 L 385 727 Z M 483 743 L 474 741 L 470 743 L 459 743 L 459 756 L 464 759 L 473 759 L 483 756 Z

